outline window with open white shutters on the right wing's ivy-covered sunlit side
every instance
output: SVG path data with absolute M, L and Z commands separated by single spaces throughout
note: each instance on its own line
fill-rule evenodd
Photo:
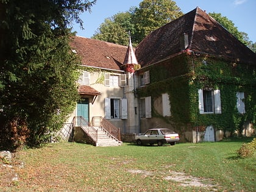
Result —
M 221 93 L 219 90 L 198 90 L 199 111 L 204 113 L 221 113 Z

